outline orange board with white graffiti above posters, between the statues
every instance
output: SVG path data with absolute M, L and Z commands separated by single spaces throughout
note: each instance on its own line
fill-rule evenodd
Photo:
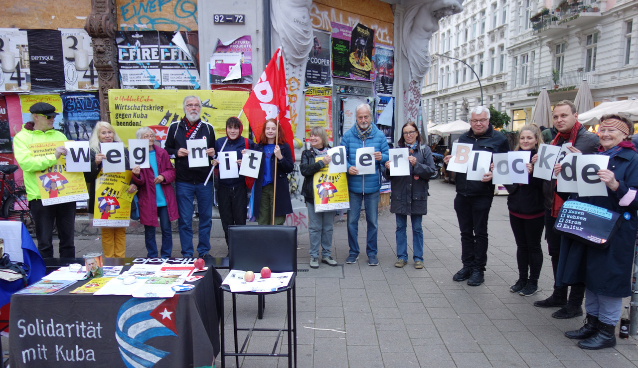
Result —
M 375 18 L 364 17 L 363 15 L 330 8 L 314 2 L 310 8 L 310 20 L 313 27 L 329 32 L 332 29 L 330 22 L 351 27 L 357 23 L 364 24 L 375 30 L 375 43 L 392 46 L 392 38 L 394 37 L 392 23 L 382 22 Z

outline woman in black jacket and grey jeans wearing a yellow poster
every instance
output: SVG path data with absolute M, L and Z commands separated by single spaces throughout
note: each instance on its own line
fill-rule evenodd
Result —
M 320 126 L 310 129 L 310 145 L 309 149 L 301 152 L 301 163 L 299 164 L 299 172 L 304 176 L 304 184 L 301 186 L 301 195 L 304 196 L 304 202 L 308 208 L 308 235 L 310 237 L 310 267 L 311 269 L 319 268 L 319 250 L 321 249 L 321 261 L 330 266 L 336 266 L 337 261 L 332 258 L 330 248 L 332 247 L 332 223 L 334 221 L 334 211 L 315 211 L 315 192 L 313 186 L 315 173 L 330 163 L 330 156 L 327 152 L 330 149 L 328 145 L 328 135 Z M 316 160 L 315 158 L 321 158 Z M 327 200 L 327 197 L 323 197 Z

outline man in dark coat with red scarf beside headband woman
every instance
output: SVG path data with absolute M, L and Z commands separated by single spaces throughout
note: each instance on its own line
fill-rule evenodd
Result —
M 554 128 L 558 130 L 558 134 L 551 144 L 563 145 L 571 142 L 574 149 L 570 149 L 570 151 L 582 152 L 583 154 L 591 154 L 598 151 L 600 140 L 597 135 L 588 131 L 578 122 L 578 113 L 574 103 L 567 100 L 560 101 L 554 107 L 552 117 Z M 536 161 L 536 159 L 533 158 L 532 161 Z M 547 250 L 552 259 L 552 270 L 554 272 L 554 280 L 556 280 L 561 235 L 554 230 L 554 223 L 556 223 L 556 217 L 558 217 L 558 210 L 560 210 L 563 202 L 567 200 L 569 193 L 558 193 L 556 191 L 556 179 L 545 181 L 543 193 L 545 196 L 545 240 L 547 240 Z M 585 286 L 573 285 L 569 298 L 567 297 L 567 288 L 568 286 L 556 286 L 554 283 L 552 295 L 545 300 L 534 302 L 534 305 L 541 308 L 561 307 L 561 309 L 552 314 L 552 317 L 561 320 L 582 316 L 582 299 L 585 295 Z

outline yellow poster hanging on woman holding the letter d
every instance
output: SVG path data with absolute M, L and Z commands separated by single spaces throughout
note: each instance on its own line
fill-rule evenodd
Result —
M 315 158 L 315 161 L 320 159 Z M 328 166 L 330 164 L 323 166 L 313 177 L 315 212 L 349 209 L 350 198 L 346 173 L 329 173 Z

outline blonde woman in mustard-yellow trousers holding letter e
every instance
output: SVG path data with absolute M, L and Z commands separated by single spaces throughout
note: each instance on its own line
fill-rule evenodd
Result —
M 89 215 L 93 214 L 94 202 L 95 202 L 95 179 L 102 171 L 102 161 L 106 158 L 105 154 L 101 153 L 101 143 L 122 142 L 122 140 L 115 133 L 115 129 L 111 124 L 106 121 L 98 121 L 95 124 L 93 131 L 91 132 L 91 138 L 89 138 L 89 148 L 91 149 L 91 172 L 84 173 L 84 179 L 89 184 Z M 124 149 L 124 161 L 126 163 L 126 169 L 129 169 L 128 163 L 128 150 Z M 133 173 L 140 173 L 140 166 L 133 168 Z M 135 184 L 131 184 L 129 193 L 133 193 L 137 190 Z M 126 228 L 114 228 L 103 227 L 101 228 L 102 239 L 102 251 L 105 257 L 117 257 L 122 258 L 126 253 Z

